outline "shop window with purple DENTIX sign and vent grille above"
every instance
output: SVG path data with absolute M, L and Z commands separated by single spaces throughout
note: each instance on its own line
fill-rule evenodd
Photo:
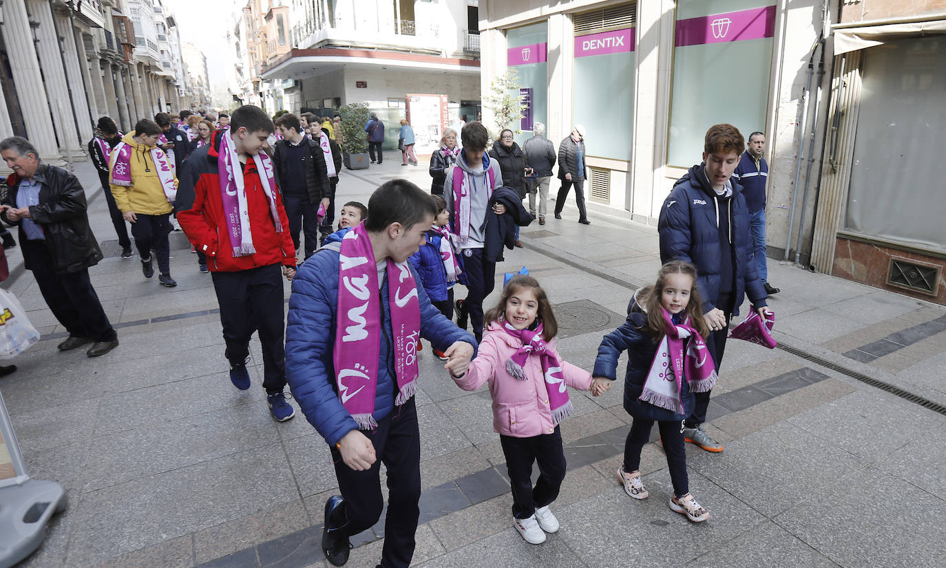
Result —
M 575 14 L 572 124 L 587 129 L 589 156 L 631 159 L 636 5 Z

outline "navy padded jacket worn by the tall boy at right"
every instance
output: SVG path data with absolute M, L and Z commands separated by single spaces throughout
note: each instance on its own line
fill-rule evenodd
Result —
M 752 252 L 752 234 L 749 232 L 749 210 L 745 206 L 742 186 L 732 181 L 733 196 L 729 219 L 732 223 L 733 249 L 735 250 L 735 308 L 733 316 L 739 315 L 739 306 L 747 294 L 756 307 L 767 305 L 759 269 Z M 703 313 L 714 307 L 719 297 L 720 269 L 723 266 L 722 246 L 716 219 L 716 192 L 710 186 L 703 165 L 694 165 L 674 184 L 674 189 L 660 208 L 657 232 L 660 234 L 660 262 L 681 260 L 696 267 L 696 287 L 703 301 Z M 720 206 L 725 206 L 720 204 Z M 724 310 L 723 307 L 720 309 Z

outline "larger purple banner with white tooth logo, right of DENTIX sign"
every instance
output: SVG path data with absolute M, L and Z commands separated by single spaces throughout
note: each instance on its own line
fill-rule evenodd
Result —
M 775 7 L 744 9 L 678 20 L 674 45 L 742 42 L 775 35 Z

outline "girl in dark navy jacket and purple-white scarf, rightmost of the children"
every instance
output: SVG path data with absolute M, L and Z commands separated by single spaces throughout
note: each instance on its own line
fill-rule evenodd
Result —
M 640 450 L 657 422 L 674 485 L 670 508 L 699 523 L 710 512 L 690 494 L 682 421 L 692 411 L 693 392 L 707 392 L 716 383 L 716 370 L 704 342 L 710 331 L 695 284 L 691 264 L 673 261 L 660 267 L 657 284 L 639 289 L 627 307 L 627 320 L 604 336 L 594 376 L 614 380 L 618 357 L 627 351 L 624 409 L 634 422 L 618 468 L 624 491 L 635 499 L 649 495 L 640 480 Z

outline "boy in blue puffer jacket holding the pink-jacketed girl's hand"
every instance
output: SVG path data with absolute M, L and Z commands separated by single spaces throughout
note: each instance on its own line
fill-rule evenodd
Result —
M 286 373 L 292 395 L 332 453 L 341 495 L 325 503 L 322 549 L 348 560 L 349 537 L 388 513 L 381 565 L 408 566 L 420 516 L 420 433 L 413 394 L 418 336 L 462 375 L 476 342 L 430 305 L 407 262 L 433 222 L 430 196 L 410 181 L 388 181 L 368 202 L 371 216 L 322 249 L 292 279 Z

